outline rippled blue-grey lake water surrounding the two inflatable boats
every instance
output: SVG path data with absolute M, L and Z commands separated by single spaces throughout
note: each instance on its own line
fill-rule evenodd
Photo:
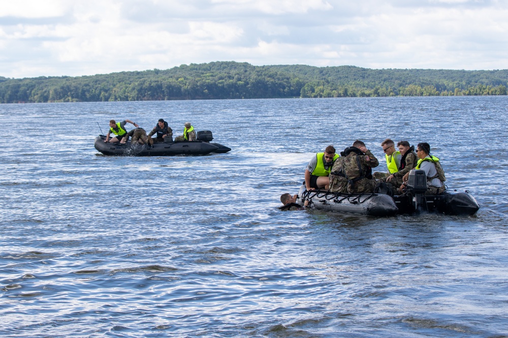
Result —
M 507 97 L 0 105 L 2 337 L 508 336 Z M 105 157 L 108 121 L 233 148 Z M 130 127 L 130 125 L 129 125 Z M 427 141 L 473 217 L 282 212 L 326 145 Z

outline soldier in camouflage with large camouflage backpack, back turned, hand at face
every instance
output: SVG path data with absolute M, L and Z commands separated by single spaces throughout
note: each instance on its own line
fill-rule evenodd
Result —
M 372 193 L 376 181 L 372 178 L 372 168 L 379 161 L 365 147 L 365 143 L 356 140 L 352 147 L 344 149 L 343 155 L 333 165 L 330 173 L 330 191 L 341 193 Z

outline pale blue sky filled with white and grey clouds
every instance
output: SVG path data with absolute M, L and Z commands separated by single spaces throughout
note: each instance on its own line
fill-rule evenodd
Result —
M 508 0 L 0 0 L 0 77 L 213 61 L 508 68 Z

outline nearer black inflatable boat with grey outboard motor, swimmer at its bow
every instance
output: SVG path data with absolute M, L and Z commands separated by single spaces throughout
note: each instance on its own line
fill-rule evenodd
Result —
M 407 190 L 403 195 L 389 196 L 381 193 L 344 194 L 324 190 L 307 191 L 305 185 L 298 192 L 298 203 L 309 202 L 311 208 L 339 211 L 368 216 L 393 216 L 395 214 L 441 213 L 446 215 L 474 215 L 478 202 L 467 192 L 444 192 L 425 195 L 427 178 L 423 170 L 411 170 Z

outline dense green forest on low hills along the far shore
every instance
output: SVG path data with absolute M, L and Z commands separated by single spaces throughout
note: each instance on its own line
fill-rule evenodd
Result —
M 83 77 L 0 77 L 0 103 L 506 95 L 507 86 L 508 69 L 368 69 L 211 62 Z

